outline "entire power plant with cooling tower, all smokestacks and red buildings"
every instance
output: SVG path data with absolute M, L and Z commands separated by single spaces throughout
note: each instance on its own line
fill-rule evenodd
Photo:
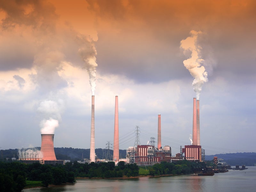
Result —
M 139 140 L 139 131 L 137 127 L 136 138 Z M 150 145 L 137 145 L 127 148 L 126 159 L 119 158 L 119 125 L 118 125 L 118 96 L 115 97 L 115 118 L 114 118 L 114 150 L 113 161 L 117 164 L 119 161 L 126 163 L 137 163 L 138 165 L 152 165 L 162 161 L 172 162 L 179 160 L 202 161 L 204 160 L 204 149 L 200 146 L 200 122 L 199 122 L 199 100 L 193 99 L 193 138 L 191 145 L 180 146 L 180 153 L 172 156 L 172 148 L 169 145 L 162 146 L 161 143 L 161 114 L 157 118 L 157 148 L 155 147 L 155 138 L 150 138 Z M 53 140 L 54 134 L 41 134 L 41 150 L 39 155 L 27 155 L 20 153 L 20 161 L 24 163 L 39 162 L 42 164 L 65 164 L 65 160 L 57 160 L 54 152 Z M 183 156 L 184 155 L 184 156 Z M 91 116 L 91 142 L 90 159 L 87 163 L 100 161 L 95 160 L 95 121 L 94 121 L 94 95 L 92 95 L 92 116 Z M 84 161 L 85 162 L 85 161 Z M 86 163 L 85 162 L 85 163 Z

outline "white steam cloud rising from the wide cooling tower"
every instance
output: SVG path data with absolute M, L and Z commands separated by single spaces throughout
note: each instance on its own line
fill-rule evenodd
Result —
M 41 134 L 54 134 L 55 128 L 59 127 L 61 120 L 61 110 L 63 109 L 63 101 L 58 102 L 45 100 L 39 104 L 37 110 L 44 115 L 44 119 L 40 122 Z

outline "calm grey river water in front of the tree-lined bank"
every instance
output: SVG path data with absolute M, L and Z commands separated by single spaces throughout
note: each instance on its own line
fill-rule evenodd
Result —
M 24 189 L 24 192 L 251 192 L 256 191 L 256 166 L 248 169 L 229 170 L 226 173 L 215 173 L 213 176 L 194 174 L 165 177 L 141 177 L 136 179 L 77 179 L 75 184 L 48 188 Z

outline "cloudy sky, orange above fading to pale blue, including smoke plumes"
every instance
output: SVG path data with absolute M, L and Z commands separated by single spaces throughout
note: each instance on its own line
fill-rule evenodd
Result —
M 256 152 L 256 1 L 0 0 L 0 149 L 95 148 L 151 137 L 205 155 Z M 184 62 L 183 62 L 184 61 Z M 193 84 L 193 85 L 192 85 Z M 194 91 L 195 89 L 195 91 Z M 156 143 L 157 146 L 157 143 Z

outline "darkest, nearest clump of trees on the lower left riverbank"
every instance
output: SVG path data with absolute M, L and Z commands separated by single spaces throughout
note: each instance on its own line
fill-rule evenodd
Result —
M 75 174 L 68 165 L 44 165 L 39 163 L 0 162 L 0 191 L 21 191 L 26 180 L 42 181 L 42 185 L 74 183 Z

